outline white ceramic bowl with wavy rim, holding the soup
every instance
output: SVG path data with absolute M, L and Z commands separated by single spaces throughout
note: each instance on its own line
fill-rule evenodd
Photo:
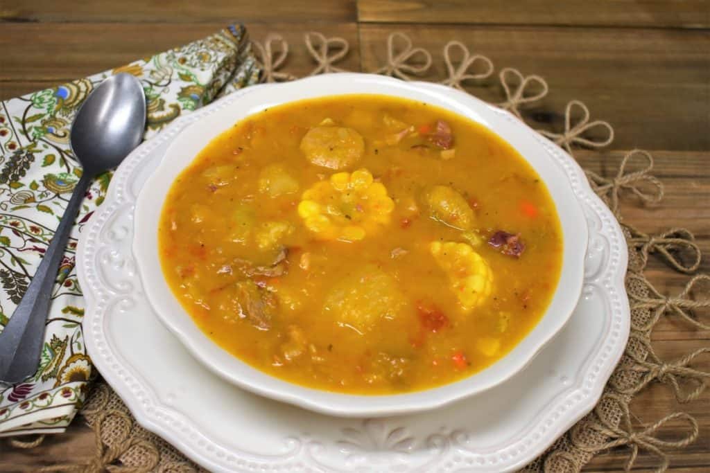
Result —
M 241 362 L 197 328 L 165 282 L 158 258 L 158 220 L 171 184 L 210 140 L 246 116 L 289 101 L 337 94 L 386 94 L 423 101 L 483 124 L 523 155 L 547 185 L 564 235 L 562 273 L 542 320 L 508 355 L 471 377 L 427 391 L 391 396 L 355 396 L 309 389 L 282 381 Z M 577 201 L 580 182 L 574 161 L 518 120 L 464 92 L 435 84 L 408 83 L 371 74 L 329 74 L 251 89 L 180 132 L 164 160 L 146 182 L 136 204 L 133 252 L 155 313 L 198 360 L 224 379 L 256 394 L 337 416 L 389 416 L 444 406 L 511 377 L 567 322 L 577 304 L 587 244 L 584 214 Z

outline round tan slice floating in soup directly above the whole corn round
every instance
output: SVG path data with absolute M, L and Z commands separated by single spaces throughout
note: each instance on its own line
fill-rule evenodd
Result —
M 300 148 L 312 164 L 339 170 L 360 160 L 365 152 L 365 141 L 352 128 L 317 126 L 308 130 Z

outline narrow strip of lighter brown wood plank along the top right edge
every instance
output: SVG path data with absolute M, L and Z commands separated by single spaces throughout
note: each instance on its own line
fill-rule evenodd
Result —
M 359 0 L 359 20 L 471 25 L 649 26 L 707 28 L 706 0 L 585 1 Z

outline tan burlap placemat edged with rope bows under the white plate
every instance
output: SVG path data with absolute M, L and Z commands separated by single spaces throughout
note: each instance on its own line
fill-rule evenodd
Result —
M 403 33 L 392 33 L 384 45 L 386 64 L 376 72 L 410 80 L 424 74 L 432 65 L 430 52 L 415 48 Z M 262 82 L 292 80 L 295 77 L 282 70 L 288 60 L 288 43 L 278 34 L 270 34 L 263 43 L 253 43 L 258 60 L 263 66 Z M 312 74 L 337 72 L 337 62 L 346 56 L 349 45 L 342 38 L 325 38 L 321 33 L 307 33 L 304 48 L 315 64 Z M 525 121 L 526 111 L 548 93 L 545 79 L 537 75 L 525 76 L 516 69 L 503 68 L 498 79 L 493 77 L 493 63 L 487 57 L 472 54 L 466 45 L 452 41 L 444 45 L 447 77 L 441 80 L 457 89 L 476 93 L 477 87 L 501 89 L 498 106 L 506 108 Z M 539 130 L 574 156 L 579 148 L 603 148 L 613 141 L 613 128 L 605 121 L 591 121 L 589 109 L 580 101 L 572 100 L 564 111 L 562 130 Z M 623 158 L 613 177 L 603 177 L 587 171 L 592 187 L 611 208 L 621 223 L 629 250 L 626 277 L 631 306 L 631 335 L 626 352 L 606 385 L 594 411 L 562 435 L 543 455 L 525 467 L 525 472 L 575 472 L 599 452 L 611 447 L 626 446 L 626 469 L 633 466 L 639 450 L 647 450 L 658 457 L 656 471 L 668 467 L 666 452 L 686 447 L 698 436 L 697 422 L 687 413 L 676 412 L 658 419 L 651 425 L 638 425 L 629 411 L 630 400 L 652 382 L 665 384 L 676 399 L 689 402 L 701 394 L 710 373 L 694 369 L 694 360 L 710 347 L 688 353 L 678 360 L 663 360 L 653 350 L 650 334 L 660 318 L 670 316 L 685 321 L 689 330 L 709 330 L 698 311 L 710 307 L 710 299 L 696 299 L 701 294 L 700 284 L 710 282 L 706 274 L 689 280 L 680 294 L 665 296 L 655 289 L 644 275 L 649 257 L 653 255 L 669 265 L 669 271 L 694 274 L 701 254 L 694 236 L 683 228 L 671 228 L 657 235 L 648 235 L 623 220 L 619 212 L 620 199 L 635 199 L 639 204 L 658 204 L 663 196 L 662 184 L 652 175 L 653 158 L 642 150 L 633 150 Z M 707 294 L 706 292 L 704 294 Z M 45 472 L 155 471 L 193 472 L 200 468 L 185 459 L 180 452 L 158 436 L 137 425 L 128 408 L 102 381 L 94 384 L 82 411 L 87 423 L 96 433 L 94 457 L 77 464 L 62 464 L 42 469 Z M 679 421 L 687 424 L 681 440 L 666 441 L 655 436 L 665 423 Z M 11 440 L 16 447 L 37 447 L 42 438 L 22 442 Z

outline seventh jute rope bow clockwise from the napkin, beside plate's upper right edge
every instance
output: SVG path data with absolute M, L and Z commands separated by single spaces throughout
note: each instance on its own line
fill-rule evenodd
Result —
M 626 172 L 632 160 L 645 160 L 648 164 L 635 172 Z M 598 194 L 608 204 L 611 211 L 618 215 L 619 191 L 626 189 L 633 192 L 645 204 L 656 204 L 663 197 L 663 184 L 650 174 L 653 169 L 653 157 L 643 150 L 632 150 L 623 157 L 618 172 L 613 179 L 601 177 L 596 172 L 587 170 L 586 177 Z M 643 189 L 641 184 L 650 184 L 652 189 Z

